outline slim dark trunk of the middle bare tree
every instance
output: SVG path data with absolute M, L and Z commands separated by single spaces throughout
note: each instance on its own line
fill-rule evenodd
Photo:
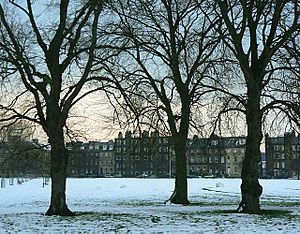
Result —
M 188 201 L 188 185 L 187 185 L 187 168 L 186 168 L 186 140 L 182 137 L 175 137 L 175 189 L 170 198 L 174 204 L 189 204 Z

